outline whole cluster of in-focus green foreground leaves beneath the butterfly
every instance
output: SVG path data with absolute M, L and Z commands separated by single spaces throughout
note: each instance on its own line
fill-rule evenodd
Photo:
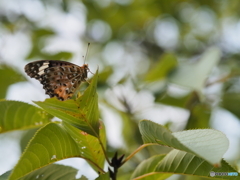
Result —
M 96 72 L 89 87 L 76 100 L 63 102 L 51 98 L 35 102 L 42 109 L 23 102 L 0 101 L 3 114 L 0 119 L 1 133 L 41 126 L 29 141 L 17 165 L 11 173 L 2 175 L 2 179 L 47 179 L 50 176 L 51 179 L 75 179 L 76 170 L 53 163 L 79 157 L 98 172 L 98 180 L 114 180 L 118 169 L 137 152 L 156 145 L 174 149 L 144 160 L 131 174 L 131 179 L 165 179 L 179 173 L 210 177 L 211 171 L 236 171 L 222 159 L 228 149 L 228 139 L 223 133 L 211 129 L 171 133 L 149 120 L 139 123 L 144 144 L 125 159 L 124 155 L 118 157 L 116 153 L 110 160 L 104 124 L 99 120 L 97 78 Z M 51 121 L 52 115 L 62 122 Z M 103 169 L 105 161 L 109 165 L 109 173 Z

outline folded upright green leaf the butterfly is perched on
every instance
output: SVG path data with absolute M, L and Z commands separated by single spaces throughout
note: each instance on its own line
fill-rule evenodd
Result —
M 56 98 L 35 102 L 48 113 L 95 137 L 99 136 L 98 95 L 96 93 L 98 72 L 84 94 L 77 100 L 59 101 Z

